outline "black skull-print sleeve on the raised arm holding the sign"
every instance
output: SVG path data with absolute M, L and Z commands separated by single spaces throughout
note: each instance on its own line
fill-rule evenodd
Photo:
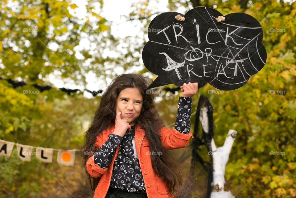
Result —
M 190 131 L 192 97 L 179 97 L 177 118 L 174 128 L 180 133 L 188 134 Z

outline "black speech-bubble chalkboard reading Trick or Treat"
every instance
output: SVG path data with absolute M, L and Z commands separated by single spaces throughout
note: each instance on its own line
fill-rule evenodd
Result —
M 234 90 L 259 72 L 266 62 L 260 23 L 245 13 L 224 17 L 209 7 L 156 16 L 142 52 L 146 68 L 158 75 L 148 88 L 198 82 Z

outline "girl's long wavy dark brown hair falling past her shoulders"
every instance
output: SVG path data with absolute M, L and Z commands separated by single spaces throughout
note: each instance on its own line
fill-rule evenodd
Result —
M 139 125 L 144 129 L 146 138 L 150 143 L 150 152 L 162 153 L 160 156 L 151 155 L 151 163 L 154 173 L 166 181 L 167 188 L 171 195 L 173 195 L 182 184 L 182 177 L 179 176 L 179 163 L 169 155 L 167 150 L 161 144 L 158 131 L 165 125 L 155 107 L 155 95 L 150 93 L 150 91 L 147 91 L 147 87 L 151 82 L 152 80 L 150 78 L 139 74 L 122 74 L 112 80 L 102 95 L 101 103 L 95 112 L 90 127 L 84 134 L 84 145 L 80 150 L 80 154 L 84 158 L 84 168 L 92 190 L 97 187 L 100 178 L 94 178 L 88 174 L 86 169 L 88 155 L 84 155 L 84 153 L 96 152 L 98 147 L 94 144 L 97 135 L 102 133 L 107 127 L 113 126 L 114 119 L 116 118 L 116 100 L 119 93 L 125 88 L 137 88 L 143 97 L 141 113 L 139 117 L 135 119 L 135 125 Z M 91 178 L 93 179 L 93 182 L 91 181 Z

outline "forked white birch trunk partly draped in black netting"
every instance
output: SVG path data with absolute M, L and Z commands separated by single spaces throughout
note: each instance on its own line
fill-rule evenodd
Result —
M 198 129 L 199 122 L 202 126 L 202 139 L 194 138 L 192 142 L 192 159 L 191 159 L 191 175 L 194 175 L 194 166 L 197 162 L 200 162 L 205 169 L 208 170 L 208 189 L 207 198 L 233 198 L 234 196 L 230 191 L 224 191 L 224 174 L 225 166 L 228 162 L 229 153 L 231 151 L 234 139 L 236 138 L 236 131 L 230 129 L 228 135 L 224 141 L 222 147 L 216 148 L 214 141 L 214 126 L 213 126 L 213 107 L 209 102 L 208 98 L 204 95 L 200 95 L 198 107 L 195 115 L 194 124 L 194 136 L 199 137 Z M 211 158 L 211 163 L 209 166 L 203 161 L 203 158 L 199 156 L 199 146 L 206 145 L 208 150 L 208 155 Z M 212 192 L 213 186 L 213 192 Z

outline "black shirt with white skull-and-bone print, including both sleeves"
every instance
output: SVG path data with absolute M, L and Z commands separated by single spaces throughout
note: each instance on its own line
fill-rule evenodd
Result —
M 174 128 L 180 133 L 190 131 L 192 97 L 179 97 L 178 112 Z M 101 168 L 108 168 L 116 147 L 119 146 L 113 165 L 110 188 L 119 188 L 125 192 L 146 192 L 143 175 L 134 147 L 135 126 L 126 131 L 123 137 L 109 134 L 109 139 L 94 154 L 94 161 Z M 136 154 L 136 156 L 135 156 Z

